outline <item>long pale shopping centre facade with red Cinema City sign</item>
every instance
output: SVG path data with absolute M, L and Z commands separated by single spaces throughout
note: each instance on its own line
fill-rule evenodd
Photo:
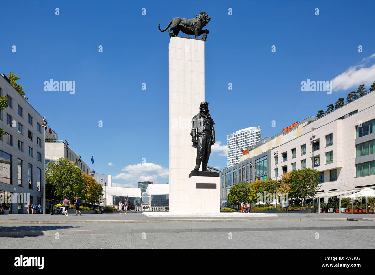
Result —
M 320 118 L 291 121 L 283 132 L 249 147 L 239 164 L 220 171 L 221 205 L 228 206 L 229 189 L 238 182 L 280 180 L 283 173 L 313 163 L 320 171 L 317 196 L 375 187 L 374 92 Z

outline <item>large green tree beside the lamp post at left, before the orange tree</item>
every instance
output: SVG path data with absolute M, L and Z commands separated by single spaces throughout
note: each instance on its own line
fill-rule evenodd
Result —
M 54 195 L 72 200 L 76 195 L 84 197 L 82 171 L 69 159 L 60 158 L 46 166 L 46 179 L 54 184 Z

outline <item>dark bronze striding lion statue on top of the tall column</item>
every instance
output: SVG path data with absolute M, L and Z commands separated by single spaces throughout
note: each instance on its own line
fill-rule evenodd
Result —
M 210 20 L 211 17 L 205 12 L 199 13 L 193 19 L 175 17 L 164 30 L 160 30 L 159 25 L 159 31 L 166 31 L 170 27 L 168 30 L 169 36 L 177 36 L 177 34 L 182 31 L 185 34 L 193 34 L 195 38 L 198 38 L 201 34 L 208 34 L 208 30 L 202 30 L 202 28 L 205 27 Z

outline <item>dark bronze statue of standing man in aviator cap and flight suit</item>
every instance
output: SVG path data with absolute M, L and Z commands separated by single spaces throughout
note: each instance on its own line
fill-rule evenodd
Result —
M 191 120 L 191 136 L 193 146 L 196 146 L 196 162 L 194 170 L 199 170 L 202 162 L 202 171 L 210 172 L 207 169 L 208 158 L 211 153 L 211 146 L 215 143 L 215 129 L 212 117 L 208 111 L 208 103 L 202 102 L 199 105 L 199 114 Z

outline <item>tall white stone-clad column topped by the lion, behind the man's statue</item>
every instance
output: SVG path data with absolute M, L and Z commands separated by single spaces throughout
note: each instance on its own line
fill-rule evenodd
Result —
M 191 119 L 204 101 L 204 41 L 169 41 L 169 211 L 189 212 L 187 183 L 194 169 Z

